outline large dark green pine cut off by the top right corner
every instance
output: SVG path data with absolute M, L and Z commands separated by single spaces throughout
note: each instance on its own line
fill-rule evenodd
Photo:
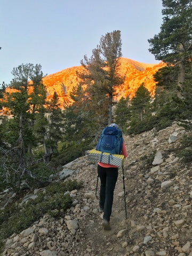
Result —
M 186 69 L 191 68 L 192 3 L 191 0 L 162 0 L 164 9 L 161 31 L 148 39 L 149 51 L 156 60 L 175 67 L 178 74 L 178 97 L 183 98 Z

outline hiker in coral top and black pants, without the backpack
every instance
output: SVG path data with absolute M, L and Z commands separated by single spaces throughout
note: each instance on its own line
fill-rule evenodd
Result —
M 115 123 L 110 124 L 109 127 L 110 126 L 116 127 L 118 129 L 118 125 Z M 124 155 L 124 157 L 127 157 L 127 151 L 124 140 L 121 152 L 121 154 Z M 98 176 L 100 178 L 101 183 L 99 211 L 103 212 L 102 226 L 105 230 L 110 230 L 111 228 L 109 221 L 113 206 L 114 189 L 118 177 L 118 166 L 99 162 Z

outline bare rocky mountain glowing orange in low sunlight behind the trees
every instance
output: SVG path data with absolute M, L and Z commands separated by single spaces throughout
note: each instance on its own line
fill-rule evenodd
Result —
M 165 63 L 146 64 L 127 58 L 121 58 L 120 61 L 119 73 L 125 76 L 125 82 L 117 87 L 116 92 L 118 95 L 116 100 L 127 96 L 132 98 L 141 83 L 144 83 L 151 95 L 153 95 L 155 91 L 153 75 L 159 68 L 165 66 Z M 63 101 L 68 98 L 73 86 L 76 86 L 78 83 L 77 71 L 81 72 L 82 70 L 82 66 L 76 66 L 45 76 L 43 83 L 46 86 L 47 99 L 51 98 L 54 92 L 57 92 L 60 105 L 62 106 Z

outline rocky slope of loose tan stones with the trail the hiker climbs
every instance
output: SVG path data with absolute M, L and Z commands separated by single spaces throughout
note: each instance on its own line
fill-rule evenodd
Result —
M 44 215 L 6 239 L 3 256 L 192 256 L 192 167 L 177 156 L 189 133 L 173 123 L 159 132 L 124 136 L 127 218 L 119 169 L 110 231 L 101 227 L 97 166 L 87 156 L 63 166 L 62 175 L 71 171 L 67 179 L 84 182 L 82 189 L 70 192 L 73 205 L 60 219 Z

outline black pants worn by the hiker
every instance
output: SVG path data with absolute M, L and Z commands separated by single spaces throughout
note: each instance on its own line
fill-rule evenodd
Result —
M 98 164 L 98 175 L 101 181 L 99 206 L 103 209 L 103 219 L 110 220 L 114 189 L 118 177 L 118 168 L 104 168 Z

